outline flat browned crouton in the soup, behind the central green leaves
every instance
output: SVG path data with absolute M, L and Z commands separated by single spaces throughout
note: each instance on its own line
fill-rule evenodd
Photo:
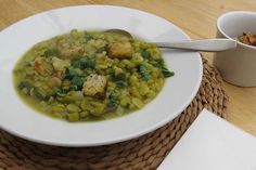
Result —
M 72 49 L 64 49 L 61 51 L 62 58 L 64 60 L 72 60 L 79 55 L 85 54 L 85 49 L 82 47 L 74 47 Z

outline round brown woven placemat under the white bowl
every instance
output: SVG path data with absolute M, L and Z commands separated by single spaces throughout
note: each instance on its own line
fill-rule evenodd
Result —
M 226 118 L 227 95 L 218 71 L 205 60 L 197 95 L 163 128 L 135 140 L 99 147 L 67 148 L 36 144 L 0 130 L 0 169 L 150 170 L 156 169 L 205 107 Z

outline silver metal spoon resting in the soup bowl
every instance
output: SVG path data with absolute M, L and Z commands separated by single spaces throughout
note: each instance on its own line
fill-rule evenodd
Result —
M 113 32 L 132 38 L 131 34 L 123 29 L 108 29 L 105 32 Z M 153 42 L 158 48 L 180 49 L 187 51 L 218 52 L 236 48 L 236 41 L 231 39 L 202 39 L 184 40 L 175 42 Z

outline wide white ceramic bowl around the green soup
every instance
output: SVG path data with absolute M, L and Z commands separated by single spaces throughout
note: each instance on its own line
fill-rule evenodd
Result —
M 94 146 L 133 139 L 172 120 L 195 96 L 202 80 L 199 53 L 169 51 L 163 56 L 175 77 L 157 97 L 128 116 L 98 122 L 71 123 L 36 113 L 14 91 L 12 69 L 35 43 L 78 29 L 121 28 L 148 41 L 189 37 L 168 21 L 138 10 L 80 5 L 43 12 L 0 32 L 0 128 L 17 136 L 59 146 Z

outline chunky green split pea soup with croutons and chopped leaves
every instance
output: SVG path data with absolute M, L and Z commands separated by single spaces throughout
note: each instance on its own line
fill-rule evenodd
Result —
M 103 120 L 140 109 L 171 76 L 152 43 L 76 29 L 34 45 L 13 70 L 26 104 L 68 121 Z

